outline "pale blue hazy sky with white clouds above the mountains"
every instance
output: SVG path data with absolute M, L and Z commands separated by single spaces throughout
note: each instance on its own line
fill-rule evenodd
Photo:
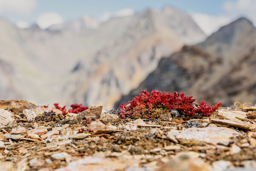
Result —
M 83 15 L 105 21 L 166 5 L 190 14 L 207 34 L 240 16 L 256 23 L 256 0 L 0 0 L 0 16 L 21 28 L 46 28 Z

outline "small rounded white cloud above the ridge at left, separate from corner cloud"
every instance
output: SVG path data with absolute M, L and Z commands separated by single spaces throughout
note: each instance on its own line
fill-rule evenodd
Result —
M 63 18 L 60 14 L 55 12 L 47 12 L 39 15 L 36 20 L 36 23 L 41 29 L 46 29 L 47 27 L 53 24 L 61 24 L 63 23 Z

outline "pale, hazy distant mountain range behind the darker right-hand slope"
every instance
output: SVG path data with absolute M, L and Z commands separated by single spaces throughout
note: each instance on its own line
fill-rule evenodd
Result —
M 169 6 L 95 27 L 81 20 L 86 23 L 82 18 L 41 30 L 18 29 L 0 18 L 0 65 L 10 70 L 0 69 L 0 99 L 110 109 L 160 58 L 205 38 L 189 15 Z

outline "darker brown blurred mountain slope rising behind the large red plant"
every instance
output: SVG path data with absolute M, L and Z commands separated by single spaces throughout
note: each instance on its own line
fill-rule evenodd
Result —
M 209 103 L 256 103 L 256 28 L 246 18 L 221 27 L 206 41 L 162 58 L 156 70 L 116 103 L 148 90 L 185 92 Z

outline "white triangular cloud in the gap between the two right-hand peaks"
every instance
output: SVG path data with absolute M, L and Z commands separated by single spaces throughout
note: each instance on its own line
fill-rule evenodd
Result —
M 191 12 L 190 15 L 207 35 L 216 32 L 221 26 L 224 26 L 231 21 L 230 17 L 224 16 L 210 16 L 196 12 Z

